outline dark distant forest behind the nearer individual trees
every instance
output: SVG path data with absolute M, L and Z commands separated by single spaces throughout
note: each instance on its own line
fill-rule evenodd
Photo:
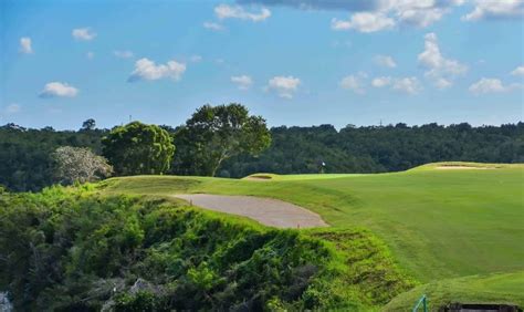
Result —
M 184 144 L 180 127 L 161 126 L 175 138 L 176 152 L 169 174 L 191 174 L 180 157 Z M 108 129 L 97 129 L 94 121 L 78 131 L 0 127 L 0 185 L 10 190 L 39 190 L 56 183 L 52 153 L 60 146 L 88 147 L 102 153 Z M 332 125 L 273 127 L 271 145 L 258 156 L 235 155 L 221 163 L 222 177 L 253 173 L 381 173 L 405 170 L 431 162 L 524 163 L 524 123 L 473 127 L 467 123 L 442 126 Z M 187 149 L 187 148 L 186 148 Z M 187 156 L 187 155 L 186 155 Z

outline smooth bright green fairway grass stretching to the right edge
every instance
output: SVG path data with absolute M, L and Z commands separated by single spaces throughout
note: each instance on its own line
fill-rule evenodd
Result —
M 441 168 L 446 166 L 452 168 Z M 524 270 L 522 165 L 448 163 L 377 175 L 265 176 L 271 178 L 116 178 L 105 183 L 105 191 L 253 195 L 291 201 L 333 227 L 370 229 L 423 283 Z

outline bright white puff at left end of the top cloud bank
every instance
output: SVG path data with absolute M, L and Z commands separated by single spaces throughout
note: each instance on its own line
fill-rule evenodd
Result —
M 395 27 L 395 21 L 382 13 L 359 12 L 353 14 L 349 20 L 332 20 L 332 29 L 348 30 L 354 29 L 359 32 L 376 32 L 388 30 Z

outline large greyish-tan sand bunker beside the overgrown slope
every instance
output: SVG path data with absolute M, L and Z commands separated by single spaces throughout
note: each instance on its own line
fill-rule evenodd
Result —
M 327 227 L 317 214 L 277 199 L 210 194 L 180 194 L 174 197 L 209 210 L 244 216 L 275 228 Z

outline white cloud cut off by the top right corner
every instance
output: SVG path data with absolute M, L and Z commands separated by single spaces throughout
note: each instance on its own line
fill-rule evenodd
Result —
M 524 17 L 524 0 L 475 0 L 474 9 L 463 21 L 517 19 Z

